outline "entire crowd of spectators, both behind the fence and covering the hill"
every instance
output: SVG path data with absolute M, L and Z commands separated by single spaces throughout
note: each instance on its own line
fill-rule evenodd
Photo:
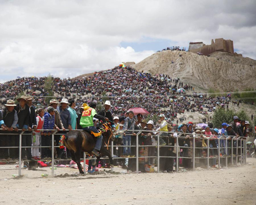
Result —
M 212 124 L 205 127 L 197 127 L 192 122 L 174 126 L 184 121 L 184 118 L 177 118 L 178 113 L 185 112 L 200 112 L 207 114 L 213 112 L 217 106 L 228 107 L 231 97 L 230 95 L 223 97 L 207 97 L 207 94 L 196 93 L 194 88 L 189 84 L 183 84 L 179 78 L 172 78 L 168 75 L 151 75 L 148 72 L 138 72 L 137 70 L 127 66 L 122 68 L 116 66 L 113 69 L 95 72 L 93 77 L 81 79 L 60 79 L 53 78 L 52 90 L 55 92 L 57 99 L 52 99 L 49 104 L 46 104 L 44 96 L 48 95 L 44 84 L 47 78 L 17 78 L 14 81 L 9 81 L 1 84 L 0 96 L 3 110 L 0 111 L 0 126 L 3 129 L 1 132 L 6 135 L 0 136 L 0 147 L 17 147 L 19 145 L 18 136 L 12 133 L 20 133 L 18 129 L 22 129 L 22 146 L 50 146 L 51 131 L 41 131 L 41 129 L 57 129 L 60 134 L 66 133 L 68 130 L 79 129 L 79 118 L 81 118 L 81 105 L 96 103 L 102 104 L 106 100 L 111 101 L 109 115 L 112 120 L 115 120 L 115 126 L 118 127 L 120 139 L 116 144 L 126 146 L 134 145 L 134 133 L 123 133 L 122 127 L 128 126 L 128 122 L 132 123 L 132 128 L 135 130 L 151 130 L 155 133 L 142 133 L 140 135 L 140 145 L 156 145 L 154 135 L 157 131 L 173 131 L 182 133 L 178 144 L 182 149 L 175 150 L 173 147 L 161 147 L 161 156 L 173 156 L 175 152 L 180 152 L 180 156 L 190 157 L 192 154 L 192 137 L 197 136 L 196 146 L 205 146 L 205 136 L 212 136 L 210 146 L 216 148 L 222 146 L 222 156 L 230 153 L 225 153 L 223 142 L 221 145 L 216 143 L 219 136 L 246 137 L 248 122 L 239 121 L 235 116 L 234 122 L 222 124 L 223 130 L 213 129 Z M 14 99 L 21 91 L 25 91 L 26 96 L 17 98 L 17 105 Z M 67 100 L 69 98 L 69 100 Z M 110 102 L 109 102 L 110 103 Z M 143 119 L 143 115 L 134 113 L 132 116 L 127 113 L 129 108 L 142 107 L 153 115 L 159 116 L 159 121 Z M 104 111 L 105 112 L 105 111 Z M 162 114 L 160 114 L 162 113 Z M 164 114 L 163 114 L 164 113 Z M 112 117 L 115 116 L 115 117 Z M 129 119 L 130 118 L 130 119 Z M 176 121 L 177 120 L 177 121 Z M 118 126 L 117 126 L 118 125 Z M 159 127 L 158 129 L 156 129 Z M 126 129 L 126 128 L 125 128 Z M 204 129 L 204 130 L 203 130 Z M 129 129 L 128 129 L 129 130 Z M 125 137 L 124 137 L 125 136 Z M 130 137 L 128 137 L 130 136 Z M 177 143 L 172 135 L 161 135 L 161 145 L 174 145 Z M 125 141 L 123 140 L 125 139 Z M 55 143 L 58 144 L 59 136 L 55 136 Z M 234 142 L 236 143 L 236 142 Z M 227 145 L 229 146 L 229 144 Z M 234 147 L 239 144 L 234 144 Z M 154 146 L 153 146 L 154 147 Z M 200 149 L 199 149 L 200 150 Z M 204 151 L 198 151 L 198 156 L 203 156 Z M 125 158 L 133 157 L 134 149 L 124 148 L 119 149 L 116 156 L 124 156 Z M 211 157 L 216 156 L 215 150 L 211 152 Z M 143 156 L 155 156 L 154 148 L 145 148 Z M 18 157 L 18 149 L 0 149 L 0 157 L 4 162 L 15 161 Z M 23 148 L 23 160 L 49 160 L 51 152 L 49 148 Z M 70 153 L 64 150 L 56 150 L 56 159 L 67 159 Z M 145 160 L 145 163 L 153 163 L 153 158 Z M 172 171 L 173 158 L 161 160 L 161 170 Z M 134 161 L 131 159 L 128 164 L 121 160 L 119 163 L 130 170 L 134 170 Z M 216 162 L 215 162 L 216 164 Z M 183 167 L 191 167 L 191 159 L 183 159 L 181 162 Z M 214 166 L 214 161 L 212 166 Z

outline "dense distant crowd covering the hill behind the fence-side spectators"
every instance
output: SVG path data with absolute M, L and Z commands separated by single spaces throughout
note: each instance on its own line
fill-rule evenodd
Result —
M 7 98 L 14 99 L 22 91 L 25 91 L 25 95 L 47 96 L 46 80 L 46 77 L 17 78 L 0 84 L 0 103 L 4 104 Z M 181 82 L 179 78 L 163 74 L 153 76 L 148 72 L 138 72 L 130 66 L 116 66 L 95 72 L 93 77 L 88 78 L 52 78 L 52 81 L 52 91 L 58 101 L 63 97 L 72 97 L 77 99 L 77 104 L 84 101 L 102 104 L 103 99 L 108 98 L 113 102 L 114 114 L 124 112 L 126 107 L 143 107 L 151 116 L 165 110 L 166 116 L 174 120 L 178 113 L 207 114 L 218 105 L 227 107 L 230 102 L 229 95 L 207 98 L 206 94 L 197 94 L 192 85 Z M 35 107 L 46 106 L 44 97 L 34 99 Z

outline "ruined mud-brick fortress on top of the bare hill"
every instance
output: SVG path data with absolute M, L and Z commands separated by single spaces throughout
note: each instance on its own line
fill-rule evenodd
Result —
M 211 45 L 205 45 L 203 42 L 189 43 L 189 51 L 193 53 L 201 52 L 203 55 L 209 55 L 216 51 L 228 52 L 235 56 L 242 56 L 234 52 L 233 40 L 224 40 L 223 38 L 216 38 L 215 42 L 212 39 Z

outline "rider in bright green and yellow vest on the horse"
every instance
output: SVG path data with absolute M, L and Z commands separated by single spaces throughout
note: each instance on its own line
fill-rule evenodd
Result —
M 84 111 L 83 111 L 81 119 L 80 119 L 80 125 L 84 131 L 87 131 L 90 134 L 92 134 L 93 136 L 97 137 L 97 141 L 96 141 L 94 149 L 92 150 L 92 153 L 95 156 L 99 156 L 99 150 L 102 146 L 103 136 L 102 136 L 101 132 L 96 127 L 94 127 L 93 118 L 97 118 L 99 120 L 104 120 L 104 121 L 108 121 L 108 118 L 105 118 L 96 113 L 96 110 L 95 110 L 96 104 L 95 103 L 91 103 L 90 106 L 88 106 L 86 103 L 84 103 L 82 105 L 82 107 L 84 107 Z

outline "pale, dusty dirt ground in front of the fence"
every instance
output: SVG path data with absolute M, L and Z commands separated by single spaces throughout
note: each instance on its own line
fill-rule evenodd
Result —
M 0 165 L 0 204 L 29 205 L 145 205 L 145 204 L 256 204 L 256 159 L 248 165 L 229 169 L 199 169 L 180 173 L 106 173 L 79 176 L 78 170 L 49 167 L 22 169 L 22 177 L 12 177 L 15 165 Z M 107 171 L 107 170 L 106 170 Z M 61 174 L 67 173 L 65 177 Z

